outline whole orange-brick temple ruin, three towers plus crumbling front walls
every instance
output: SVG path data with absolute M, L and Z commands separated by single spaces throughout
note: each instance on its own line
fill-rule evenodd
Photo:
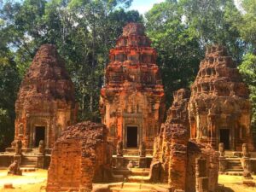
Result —
M 100 99 L 102 124 L 73 125 L 73 83 L 55 46 L 42 45 L 20 85 L 12 158 L 22 159 L 23 148 L 39 147 L 41 156 L 44 148 L 53 148 L 49 192 L 118 191 L 135 182 L 139 189 L 149 183 L 153 191 L 204 192 L 217 191 L 219 165 L 223 172 L 228 169 L 224 148 L 241 150 L 247 143 L 241 164 L 249 176 L 251 103 L 226 49 L 207 49 L 191 93 L 174 92 L 165 123 L 165 94 L 155 62 L 144 26 L 126 25 L 110 51 Z M 101 184 L 93 189 L 92 183 Z

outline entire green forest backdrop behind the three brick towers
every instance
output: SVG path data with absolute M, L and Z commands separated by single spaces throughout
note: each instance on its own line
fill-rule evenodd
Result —
M 136 1 L 136 0 L 134 0 Z M 158 52 L 166 91 L 189 88 L 207 44 L 223 44 L 251 90 L 256 122 L 256 2 L 166 0 L 145 15 L 132 0 L 0 0 L 0 149 L 14 133 L 15 98 L 41 44 L 56 44 L 76 88 L 79 120 L 99 120 L 109 49 L 128 22 L 143 22 Z M 254 127 L 256 130 L 256 123 Z

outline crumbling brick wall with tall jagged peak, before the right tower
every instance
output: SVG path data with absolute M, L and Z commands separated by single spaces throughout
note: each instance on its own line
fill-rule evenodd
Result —
M 189 90 L 177 90 L 166 123 L 154 142 L 153 163 L 162 165 L 160 181 L 171 191 L 216 191 L 218 153 L 203 143 L 189 141 Z

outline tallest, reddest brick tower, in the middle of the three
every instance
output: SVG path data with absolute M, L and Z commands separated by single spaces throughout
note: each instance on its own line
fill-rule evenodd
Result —
M 122 141 L 124 148 L 137 149 L 144 142 L 147 149 L 153 149 L 165 113 L 165 94 L 155 63 L 156 51 L 150 47 L 144 26 L 126 25 L 110 50 L 100 101 L 102 123 L 114 146 Z

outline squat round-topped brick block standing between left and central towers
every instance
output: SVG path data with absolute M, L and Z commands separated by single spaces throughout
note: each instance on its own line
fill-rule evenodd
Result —
M 108 151 L 105 125 L 86 121 L 69 126 L 52 150 L 46 191 L 90 192 L 93 182 L 106 181 Z

